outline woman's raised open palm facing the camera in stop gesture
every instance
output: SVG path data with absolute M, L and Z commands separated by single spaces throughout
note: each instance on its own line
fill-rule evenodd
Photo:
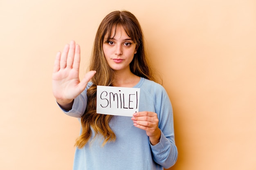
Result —
M 63 53 L 58 52 L 52 74 L 53 95 L 61 106 L 72 103 L 82 93 L 96 71 L 89 71 L 80 81 L 80 46 L 71 41 L 66 44 Z

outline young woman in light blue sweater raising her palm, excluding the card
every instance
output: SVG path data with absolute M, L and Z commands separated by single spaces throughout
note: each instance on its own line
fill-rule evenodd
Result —
M 109 13 L 99 25 L 89 71 L 79 80 L 80 47 L 71 41 L 54 63 L 53 93 L 64 113 L 81 121 L 74 170 L 163 170 L 177 160 L 173 110 L 154 82 L 144 37 L 128 11 Z M 140 88 L 133 117 L 96 113 L 97 85 Z

